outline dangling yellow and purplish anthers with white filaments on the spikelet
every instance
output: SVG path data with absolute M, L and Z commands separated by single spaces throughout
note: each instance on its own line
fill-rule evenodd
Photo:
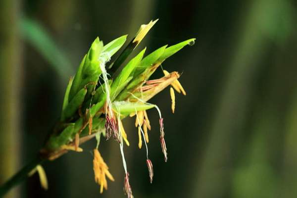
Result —
M 156 89 L 162 83 L 164 83 L 165 81 L 168 81 L 168 77 L 171 76 L 171 74 L 168 73 L 166 70 L 163 70 L 163 73 L 165 75 L 163 78 L 147 81 L 145 83 L 145 85 L 138 90 L 138 92 L 144 93 L 147 91 L 153 91 L 153 89 Z M 105 82 L 105 83 L 108 84 L 108 82 Z M 172 100 L 171 107 L 172 107 L 172 112 L 174 113 L 175 94 L 174 94 L 173 89 L 175 89 L 178 93 L 183 93 L 185 96 L 186 96 L 186 92 L 177 79 L 176 80 L 171 79 L 170 85 L 171 85 L 170 96 L 171 96 L 171 100 Z M 162 87 L 163 87 L 163 89 L 165 88 L 164 86 L 162 86 Z M 131 99 L 131 101 L 138 101 L 138 102 L 143 102 L 143 103 L 149 104 L 148 102 L 145 102 L 142 99 L 137 98 L 133 94 L 131 94 L 131 96 L 134 98 L 134 99 Z M 127 146 L 130 146 L 130 143 L 127 139 L 127 134 L 124 130 L 124 127 L 123 127 L 123 124 L 121 121 L 120 110 L 119 109 L 117 109 L 118 111 L 111 110 L 112 108 L 110 108 L 108 106 L 111 103 L 109 103 L 108 101 L 109 101 L 109 99 L 107 99 L 107 101 L 105 102 L 104 111 L 103 111 L 105 113 L 105 117 L 106 117 L 106 121 L 105 121 L 106 140 L 108 140 L 111 137 L 111 135 L 113 135 L 114 139 L 120 144 L 121 154 L 122 154 L 122 158 L 123 158 L 123 165 L 124 165 L 124 169 L 125 169 L 124 193 L 128 196 L 128 198 L 133 198 L 131 186 L 129 184 L 129 172 L 127 171 L 127 165 L 126 165 L 124 152 L 123 152 L 123 140 L 125 141 Z M 115 106 L 116 106 L 116 102 L 115 102 Z M 165 133 L 164 133 L 163 118 L 161 116 L 161 112 L 160 112 L 159 108 L 156 105 L 154 107 L 158 110 L 158 113 L 160 116 L 160 118 L 159 118 L 160 144 L 161 144 L 162 152 L 164 154 L 164 160 L 166 162 L 167 161 L 167 148 L 166 148 L 166 144 L 165 144 L 165 140 L 164 140 Z M 147 114 L 146 110 L 140 110 L 140 111 L 135 111 L 133 113 L 130 113 L 130 117 L 133 117 L 133 116 L 136 116 L 135 127 L 138 128 L 138 137 L 139 137 L 138 147 L 140 149 L 142 148 L 143 140 L 146 145 L 149 180 L 150 180 L 150 183 L 152 183 L 153 166 L 152 166 L 151 160 L 148 158 L 148 145 L 147 145 L 148 144 L 148 130 L 149 131 L 151 130 L 150 121 L 148 119 L 148 114 Z M 99 154 L 98 149 L 94 150 L 94 172 L 95 172 L 95 180 L 100 185 L 100 193 L 102 193 L 103 187 L 105 190 L 107 189 L 107 181 L 106 181 L 105 175 L 111 181 L 114 181 L 114 179 L 113 179 L 112 175 L 109 173 L 108 167 L 104 163 L 101 155 Z

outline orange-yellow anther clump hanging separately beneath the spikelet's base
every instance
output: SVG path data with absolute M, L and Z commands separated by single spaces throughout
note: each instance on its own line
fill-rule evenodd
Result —
M 104 162 L 103 158 L 101 157 L 98 149 L 94 149 L 94 173 L 95 173 L 95 181 L 100 185 L 100 193 L 103 193 L 103 187 L 107 190 L 107 181 L 106 176 L 111 180 L 114 181 L 112 175 L 108 171 L 108 166 Z

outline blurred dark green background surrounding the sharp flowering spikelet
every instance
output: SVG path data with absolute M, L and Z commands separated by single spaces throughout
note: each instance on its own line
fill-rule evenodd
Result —
M 187 96 L 151 100 L 164 117 L 168 161 L 152 124 L 149 183 L 134 119 L 124 126 L 136 198 L 297 198 L 297 2 L 295 0 L 0 0 L 0 183 L 42 147 L 59 117 L 69 76 L 94 39 L 132 39 L 159 21 L 140 51 L 197 38 L 163 64 Z M 161 76 L 161 71 L 154 77 Z M 34 175 L 7 198 L 124 198 L 120 150 L 101 141 L 115 182 L 99 194 L 96 141 L 47 162 L 49 190 Z

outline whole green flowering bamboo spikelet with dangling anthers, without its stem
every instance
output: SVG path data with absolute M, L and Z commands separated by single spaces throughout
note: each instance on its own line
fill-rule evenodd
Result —
M 80 145 L 96 137 L 98 142 L 96 149 L 94 149 L 93 167 L 95 181 L 100 186 L 100 193 L 103 192 L 103 189 L 107 190 L 106 177 L 114 181 L 98 150 L 100 136 L 102 135 L 106 140 L 113 136 L 114 140 L 119 143 L 118 146 L 120 147 L 125 170 L 124 193 L 128 198 L 133 198 L 124 156 L 124 142 L 127 146 L 130 144 L 121 121 L 128 115 L 131 117 L 136 115 L 135 126 L 138 128 L 138 147 L 142 148 L 144 143 L 147 149 L 146 162 L 150 183 L 152 183 L 153 178 L 153 167 L 148 158 L 148 130 L 151 130 L 151 125 L 147 110 L 153 107 L 159 113 L 159 139 L 164 160 L 167 161 L 163 118 L 158 106 L 148 103 L 148 100 L 171 86 L 171 107 L 172 112 L 174 112 L 175 94 L 173 89 L 178 93 L 183 93 L 183 95 L 186 95 L 186 92 L 178 81 L 180 74 L 177 71 L 169 73 L 163 70 L 164 77 L 153 80 L 149 78 L 155 71 L 159 71 L 157 70 L 158 67 L 161 64 L 164 65 L 167 58 L 183 49 L 188 43 L 193 43 L 195 39 L 189 39 L 170 47 L 163 46 L 146 56 L 146 49 L 143 49 L 122 70 L 117 72 L 120 65 L 125 62 L 132 51 L 144 39 L 156 21 L 150 21 L 147 25 L 142 25 L 132 41 L 116 59 L 111 58 L 124 45 L 127 35 L 119 37 L 106 45 L 103 45 L 98 37 L 95 39 L 80 63 L 75 77 L 70 78 L 68 82 L 60 119 L 40 151 L 42 159 L 54 160 L 69 150 L 83 151 Z M 110 60 L 113 62 L 110 62 Z M 153 133 L 153 131 L 150 133 Z M 150 141 L 153 141 L 153 139 L 150 139 Z M 43 188 L 46 188 L 45 174 L 40 168 L 39 172 L 40 175 L 44 175 L 41 183 Z

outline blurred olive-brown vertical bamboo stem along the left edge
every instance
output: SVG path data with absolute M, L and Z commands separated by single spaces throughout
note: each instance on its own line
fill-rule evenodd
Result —
M 20 161 L 20 42 L 19 0 L 0 1 L 0 184 L 18 168 Z M 18 198 L 17 190 L 6 198 Z

